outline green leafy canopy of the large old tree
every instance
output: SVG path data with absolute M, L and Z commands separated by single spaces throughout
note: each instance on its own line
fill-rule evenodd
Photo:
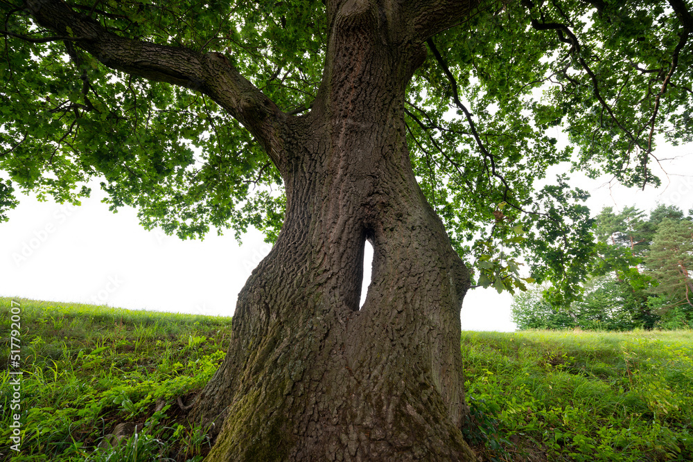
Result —
M 68 4 L 121 37 L 223 53 L 292 114 L 309 110 L 320 85 L 322 1 Z M 0 220 L 16 187 L 78 203 L 100 178 L 110 207 L 137 207 L 149 229 L 201 238 L 253 225 L 276 238 L 279 172 L 195 85 L 113 71 L 20 0 L 0 0 L 0 13 Z M 658 185 L 656 141 L 692 141 L 692 32 L 684 0 L 523 0 L 483 2 L 428 39 L 404 108 L 412 166 L 453 247 L 485 262 L 480 283 L 523 287 L 502 244 L 532 254 L 535 278 L 570 301 L 593 254 L 586 194 L 563 177 L 538 193 L 535 183 L 570 162 Z

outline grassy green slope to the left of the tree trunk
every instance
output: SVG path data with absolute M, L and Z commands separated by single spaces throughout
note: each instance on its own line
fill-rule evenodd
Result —
M 207 432 L 186 420 L 177 399 L 204 387 L 220 365 L 230 318 L 17 301 L 21 452 L 4 446 L 1 461 L 202 460 Z M 9 310 L 10 299 L 0 299 L 2 332 L 10 332 Z M 10 441 L 12 368 L 2 341 L 0 438 Z M 138 432 L 106 444 L 121 422 L 139 424 Z

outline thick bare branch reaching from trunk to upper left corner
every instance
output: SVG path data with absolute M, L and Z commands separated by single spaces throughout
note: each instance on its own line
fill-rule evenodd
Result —
M 283 171 L 281 132 L 286 114 L 221 53 L 120 37 L 61 0 L 26 0 L 24 10 L 41 26 L 71 37 L 73 44 L 111 69 L 206 94 L 243 123 Z

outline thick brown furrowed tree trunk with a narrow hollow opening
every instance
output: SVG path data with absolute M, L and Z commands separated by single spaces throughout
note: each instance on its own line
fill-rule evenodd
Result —
M 334 15 L 317 100 L 281 140 L 283 228 L 193 408 L 218 425 L 207 461 L 475 460 L 460 431 L 469 274 L 405 139 L 405 85 L 426 53 L 356 9 Z

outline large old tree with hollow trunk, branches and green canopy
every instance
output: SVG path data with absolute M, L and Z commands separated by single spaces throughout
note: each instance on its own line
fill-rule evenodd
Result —
M 591 242 L 581 193 L 535 179 L 658 184 L 655 141 L 692 134 L 685 0 L 0 8 L 0 218 L 15 187 L 78 202 L 100 177 L 145 226 L 274 241 L 191 409 L 210 461 L 473 460 L 465 292 L 521 286 L 496 249 L 529 231 L 568 301 Z

